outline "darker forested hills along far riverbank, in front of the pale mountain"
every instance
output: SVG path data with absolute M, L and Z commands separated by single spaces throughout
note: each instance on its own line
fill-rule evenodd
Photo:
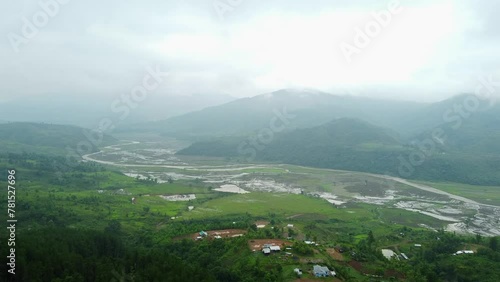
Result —
M 421 165 L 412 166 L 410 156 L 421 155 L 418 145 L 405 145 L 394 134 L 359 120 L 340 119 L 322 126 L 276 135 L 269 144 L 251 146 L 246 139 L 200 141 L 178 152 L 231 158 L 246 162 L 287 163 L 319 168 L 342 169 L 401 176 L 426 181 L 450 181 L 473 185 L 499 185 L 500 155 L 475 154 L 454 145 L 434 144 Z M 241 144 L 245 145 L 243 148 Z M 496 151 L 495 151 L 496 152 Z M 402 161 L 406 160 L 406 162 Z M 254 161 L 254 160 L 252 160 Z M 406 176 L 406 175 L 405 175 Z

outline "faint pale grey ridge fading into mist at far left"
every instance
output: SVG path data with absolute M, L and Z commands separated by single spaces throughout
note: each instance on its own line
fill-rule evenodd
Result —
M 121 96 L 120 96 L 121 95 Z M 122 123 L 163 120 L 234 100 L 229 95 L 163 95 L 152 93 L 143 102 L 127 102 L 123 94 L 47 94 L 0 102 L 0 121 L 45 122 L 96 127 L 102 118 Z M 130 104 L 128 104 L 130 103 Z M 120 119 L 127 109 L 125 119 Z

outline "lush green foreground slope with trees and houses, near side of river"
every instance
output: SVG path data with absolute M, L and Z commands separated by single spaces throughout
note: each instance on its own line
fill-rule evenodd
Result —
M 442 226 L 422 214 L 369 204 L 335 208 L 306 195 L 219 193 L 197 180 L 159 184 L 93 163 L 75 162 L 62 171 L 51 165 L 61 161 L 66 160 L 26 153 L 0 157 L 0 177 L 6 177 L 6 167 L 15 167 L 19 177 L 18 280 L 292 281 L 296 267 L 304 278 L 313 278 L 316 263 L 334 269 L 342 281 L 496 281 L 500 275 L 494 267 L 500 257 L 496 238 L 436 234 L 419 224 Z M 176 194 L 196 194 L 196 199 L 159 197 Z M 188 211 L 188 206 L 195 208 Z M 269 224 L 257 228 L 259 220 Z M 192 239 L 200 230 L 223 229 L 246 234 Z M 264 256 L 248 247 L 266 238 L 289 242 L 291 249 Z M 413 247 L 417 243 L 423 246 Z M 404 252 L 410 260 L 388 261 L 382 248 Z M 477 253 L 452 255 L 461 249 Z M 11 281 L 6 267 L 0 279 Z

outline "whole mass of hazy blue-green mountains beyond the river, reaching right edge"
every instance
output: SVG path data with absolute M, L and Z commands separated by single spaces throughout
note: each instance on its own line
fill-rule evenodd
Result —
M 82 113 L 85 106 L 80 105 Z M 146 105 L 138 113 L 147 113 L 153 107 L 168 111 L 175 106 Z M 70 112 L 67 109 L 58 118 L 64 119 Z M 79 119 L 78 110 L 73 112 Z M 499 106 L 474 95 L 418 103 L 284 89 L 165 120 L 134 123 L 140 120 L 131 117 L 108 133 L 173 137 L 192 143 L 178 154 L 224 157 L 237 162 L 277 162 L 407 178 L 500 183 Z M 20 128 L 25 128 L 22 134 L 35 136 L 39 133 L 35 127 L 23 124 Z M 7 133 L 8 128 L 9 124 L 0 128 L 5 142 L 20 142 L 24 144 L 20 150 L 29 151 L 32 141 L 20 139 L 18 131 Z M 85 136 L 85 130 L 70 127 L 52 132 L 63 140 L 68 139 L 67 134 L 79 136 L 74 141 Z M 112 139 L 108 137 L 107 141 Z

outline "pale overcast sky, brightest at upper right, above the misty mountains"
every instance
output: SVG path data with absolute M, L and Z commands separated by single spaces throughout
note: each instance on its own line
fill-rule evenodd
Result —
M 40 26 L 51 1 L 2 1 L 0 101 L 117 96 L 156 65 L 170 72 L 164 95 L 308 87 L 437 101 L 472 91 L 479 73 L 500 80 L 500 1 L 401 1 L 362 48 L 356 29 L 377 32 L 373 12 L 391 1 L 64 0 Z M 357 48 L 350 62 L 341 46 Z

